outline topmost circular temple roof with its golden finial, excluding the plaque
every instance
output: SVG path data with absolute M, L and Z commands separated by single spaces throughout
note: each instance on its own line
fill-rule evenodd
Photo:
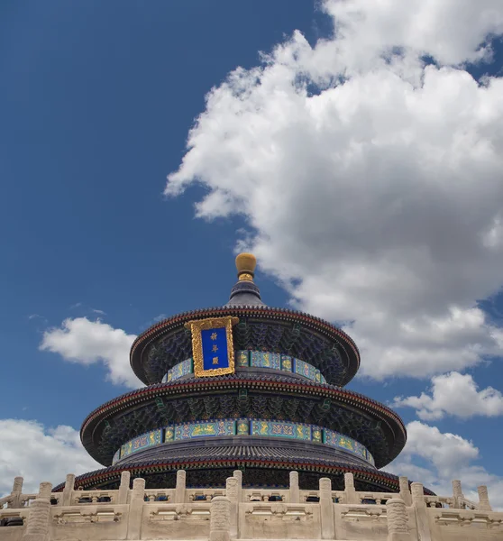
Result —
M 322 372 L 328 383 L 343 387 L 360 366 L 360 353 L 350 336 L 319 317 L 266 306 L 253 282 L 255 257 L 241 253 L 236 258 L 238 281 L 224 307 L 203 308 L 169 317 L 151 326 L 133 343 L 130 362 L 146 385 L 162 381 L 178 362 L 192 356 L 188 321 L 235 316 L 234 351 L 284 353 L 308 362 Z

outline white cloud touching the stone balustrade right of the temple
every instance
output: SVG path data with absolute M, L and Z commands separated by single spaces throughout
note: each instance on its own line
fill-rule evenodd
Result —
M 407 475 L 410 480 L 422 482 L 443 496 L 452 494 L 454 479 L 461 480 L 465 497 L 473 501 L 478 501 L 477 487 L 487 485 L 493 509 L 501 509 L 503 478 L 474 464 L 479 458 L 479 449 L 471 441 L 413 421 L 407 425 L 407 445 L 386 470 Z M 418 465 L 417 460 L 423 464 Z

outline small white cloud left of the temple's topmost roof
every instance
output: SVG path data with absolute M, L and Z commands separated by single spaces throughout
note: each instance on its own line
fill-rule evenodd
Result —
M 129 363 L 129 350 L 135 335 L 127 335 L 122 329 L 114 329 L 102 321 L 90 321 L 87 317 L 65 319 L 60 327 L 47 330 L 40 349 L 59 353 L 63 359 L 89 365 L 103 362 L 112 383 L 132 389 L 142 386 Z

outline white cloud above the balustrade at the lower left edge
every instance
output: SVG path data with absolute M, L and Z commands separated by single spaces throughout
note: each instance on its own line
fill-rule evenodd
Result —
M 45 428 L 37 421 L 0 419 L 0 496 L 12 491 L 19 475 L 24 478 L 23 492 L 33 493 L 41 481 L 56 485 L 67 473 L 102 467 L 87 454 L 71 426 Z

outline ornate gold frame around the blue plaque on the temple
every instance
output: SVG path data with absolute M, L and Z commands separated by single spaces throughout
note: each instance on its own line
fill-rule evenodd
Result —
M 192 357 L 194 359 L 194 375 L 197 378 L 207 378 L 211 376 L 222 376 L 224 374 L 233 374 L 234 369 L 234 345 L 233 345 L 233 325 L 239 322 L 239 317 L 224 316 L 224 317 L 208 317 L 207 319 L 194 319 L 187 321 L 185 324 L 187 329 L 192 333 Z M 229 366 L 225 368 L 213 368 L 205 370 L 203 360 L 203 340 L 201 331 L 208 329 L 225 328 L 225 336 L 227 338 L 227 356 Z

